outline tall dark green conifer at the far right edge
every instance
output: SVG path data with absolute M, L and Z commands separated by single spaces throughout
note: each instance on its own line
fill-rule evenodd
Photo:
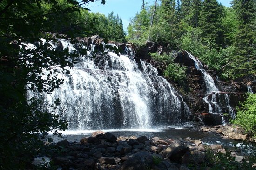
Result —
M 239 20 L 232 58 L 234 77 L 256 75 L 256 0 L 233 0 L 233 8 Z

